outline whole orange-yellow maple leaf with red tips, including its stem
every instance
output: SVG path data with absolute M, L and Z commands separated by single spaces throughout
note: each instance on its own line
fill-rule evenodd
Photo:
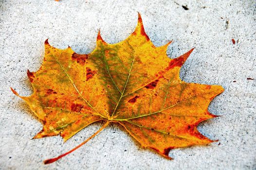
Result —
M 60 135 L 66 141 L 93 122 L 106 123 L 79 146 L 45 164 L 73 152 L 110 122 L 120 123 L 143 147 L 168 159 L 171 149 L 213 142 L 199 133 L 197 125 L 217 117 L 208 112 L 208 105 L 224 89 L 183 82 L 180 68 L 193 49 L 170 59 L 170 43 L 155 47 L 140 14 L 135 31 L 124 41 L 108 44 L 99 32 L 90 54 L 77 54 L 70 47 L 56 49 L 46 40 L 41 68 L 27 71 L 34 93 L 22 97 L 12 89 L 43 122 L 34 138 Z

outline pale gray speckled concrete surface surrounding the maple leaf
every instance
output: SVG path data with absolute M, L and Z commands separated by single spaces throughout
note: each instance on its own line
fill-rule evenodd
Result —
M 255 7 L 255 0 L 0 0 L 0 169 L 255 170 Z M 69 45 L 89 53 L 99 28 L 109 43 L 124 40 L 136 26 L 137 11 L 156 46 L 174 40 L 170 57 L 196 47 L 181 70 L 182 80 L 225 88 L 209 107 L 222 117 L 199 126 L 219 142 L 172 150 L 170 161 L 141 148 L 124 128 L 112 124 L 76 152 L 43 165 L 42 160 L 91 136 L 100 123 L 66 143 L 60 136 L 31 140 L 42 125 L 10 86 L 21 95 L 32 93 L 26 70 L 40 67 L 45 39 L 57 48 Z

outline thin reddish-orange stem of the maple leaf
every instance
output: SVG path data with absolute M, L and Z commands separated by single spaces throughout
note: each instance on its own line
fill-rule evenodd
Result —
M 97 132 L 95 132 L 92 136 L 90 136 L 88 139 L 86 139 L 85 141 L 83 141 L 81 144 L 79 144 L 78 146 L 76 146 L 75 148 L 73 148 L 72 150 L 70 150 L 69 152 L 63 153 L 63 154 L 61 154 L 61 155 L 59 155 L 59 156 L 57 156 L 57 157 L 55 157 L 55 158 L 51 158 L 51 159 L 44 160 L 44 161 L 43 161 L 44 164 L 51 164 L 51 163 L 53 163 L 53 162 L 59 160 L 60 158 L 66 156 L 67 154 L 72 153 L 73 151 L 77 150 L 78 148 L 80 148 L 81 146 L 83 146 L 85 143 L 87 143 L 91 138 L 93 138 L 93 137 L 96 136 L 98 133 L 100 133 L 103 129 L 105 129 L 105 128 L 108 126 L 109 123 L 110 123 L 110 122 L 107 121 Z

